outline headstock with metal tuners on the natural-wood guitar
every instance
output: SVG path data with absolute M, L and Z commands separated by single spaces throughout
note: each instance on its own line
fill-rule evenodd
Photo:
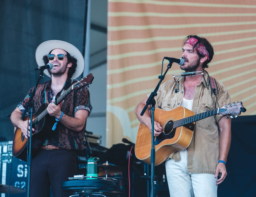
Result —
M 230 118 L 237 117 L 237 115 L 240 115 L 241 112 L 245 112 L 246 109 L 243 106 L 243 103 L 240 101 L 237 103 L 233 102 L 232 104 L 229 103 L 228 105 L 223 105 L 219 109 L 219 114 L 221 115 L 231 115 Z

